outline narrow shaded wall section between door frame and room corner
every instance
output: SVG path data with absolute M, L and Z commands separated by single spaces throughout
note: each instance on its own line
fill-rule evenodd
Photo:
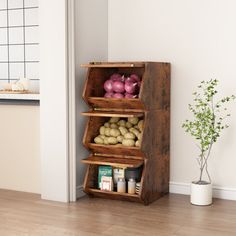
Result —
M 81 64 L 90 61 L 107 61 L 108 57 L 108 3 L 107 0 L 75 1 L 75 66 L 76 66 L 76 113 L 77 113 L 77 189 L 82 190 L 86 166 L 80 160 L 88 156 L 82 145 L 86 118 L 82 111 L 89 107 L 82 99 L 87 70 Z M 81 191 L 78 191 L 78 197 Z

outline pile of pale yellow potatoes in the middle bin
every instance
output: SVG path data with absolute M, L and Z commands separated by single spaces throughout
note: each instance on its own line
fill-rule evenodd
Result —
M 140 147 L 142 142 L 144 121 L 138 117 L 120 119 L 112 117 L 99 129 L 94 139 L 96 144 L 114 145 L 121 143 L 126 147 Z

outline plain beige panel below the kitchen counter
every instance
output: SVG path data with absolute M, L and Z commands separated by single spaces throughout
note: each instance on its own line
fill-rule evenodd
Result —
M 0 189 L 40 193 L 39 106 L 0 105 Z

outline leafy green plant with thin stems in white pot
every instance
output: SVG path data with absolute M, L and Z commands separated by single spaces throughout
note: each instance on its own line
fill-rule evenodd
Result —
M 234 95 L 215 101 L 218 80 L 202 81 L 193 93 L 193 104 L 189 104 L 193 118 L 185 120 L 182 127 L 196 141 L 199 149 L 197 162 L 200 169 L 199 179 L 191 183 L 191 203 L 194 205 L 210 205 L 212 203 L 212 181 L 208 171 L 208 160 L 213 144 L 221 132 L 228 128 L 225 122 L 230 116 L 226 104 L 235 99 Z M 207 180 L 204 180 L 204 175 Z

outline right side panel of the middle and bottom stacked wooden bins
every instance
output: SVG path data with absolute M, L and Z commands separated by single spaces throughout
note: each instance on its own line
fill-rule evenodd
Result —
M 141 198 L 148 204 L 169 191 L 170 112 L 152 110 L 148 112 L 146 122 L 142 148 L 147 162 Z

